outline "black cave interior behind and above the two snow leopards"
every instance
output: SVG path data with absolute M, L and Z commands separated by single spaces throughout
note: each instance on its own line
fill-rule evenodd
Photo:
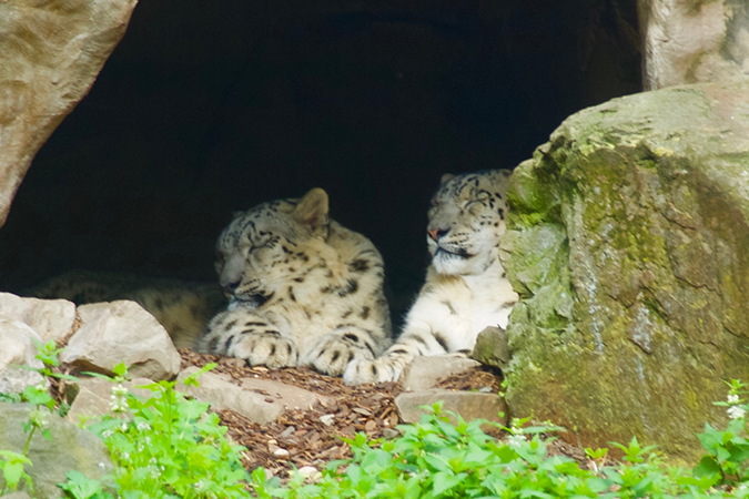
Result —
M 321 186 L 416 292 L 441 175 L 513 167 L 640 91 L 638 45 L 635 0 L 144 0 L 29 170 L 0 288 L 73 268 L 211 281 L 233 211 Z

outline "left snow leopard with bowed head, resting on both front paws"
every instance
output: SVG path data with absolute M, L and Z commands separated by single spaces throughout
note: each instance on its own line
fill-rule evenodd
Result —
M 382 256 L 370 240 L 328 220 L 322 189 L 235 214 L 216 256 L 230 304 L 199 350 L 340 376 L 389 345 Z

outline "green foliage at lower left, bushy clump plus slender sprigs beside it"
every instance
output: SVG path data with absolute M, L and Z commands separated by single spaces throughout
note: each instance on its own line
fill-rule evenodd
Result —
M 47 377 L 74 380 L 52 373 L 59 365 L 54 342 L 39 345 L 37 358 L 44 367 L 38 370 Z M 196 378 L 215 365 L 183 379 L 186 386 L 198 386 Z M 241 446 L 230 445 L 226 427 L 219 416 L 209 413 L 209 404 L 188 398 L 175 389 L 176 381 L 152 383 L 141 388 L 151 390 L 142 400 L 122 386 L 126 369 L 114 368 L 111 411 L 89 427 L 111 451 L 114 470 L 102 480 L 93 480 L 79 471 L 67 473 L 60 483 L 67 497 L 74 499 L 108 498 L 244 498 L 247 473 L 241 464 Z M 109 379 L 109 378 L 108 378 Z M 0 451 L 0 471 L 4 487 L 0 496 L 16 491 L 26 482 L 33 492 L 31 477 L 24 467 L 32 466 L 27 452 L 37 430 L 49 438 L 47 415 L 55 409 L 55 401 L 44 384 L 26 389 L 20 397 L 2 397 L 9 401 L 28 401 L 34 406 L 24 426 L 29 435 L 22 454 Z M 67 411 L 68 407 L 61 407 Z

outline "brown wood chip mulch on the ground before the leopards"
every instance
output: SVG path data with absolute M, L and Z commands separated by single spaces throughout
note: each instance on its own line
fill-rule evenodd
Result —
M 234 358 L 196 354 L 180 349 L 182 368 L 202 367 L 216 363 L 215 373 L 235 379 L 256 377 L 298 386 L 326 395 L 330 404 L 320 404 L 310 410 L 287 410 L 275 421 L 259 425 L 232 410 L 217 411 L 229 436 L 247 448 L 244 466 L 247 470 L 264 467 L 267 472 L 286 478 L 292 467 L 314 466 L 323 469 L 328 461 L 351 457 L 351 449 L 342 440 L 356 432 L 370 438 L 393 438 L 398 435 L 399 422 L 394 398 L 401 394 L 397 383 L 346 386 L 341 378 L 333 378 L 307 368 L 267 369 L 249 367 Z M 470 390 L 489 387 L 499 390 L 502 377 L 490 369 L 476 368 L 442 380 L 441 388 Z

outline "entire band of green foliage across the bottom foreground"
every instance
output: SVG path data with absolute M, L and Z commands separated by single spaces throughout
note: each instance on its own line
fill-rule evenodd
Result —
M 48 377 L 53 374 L 57 354 L 53 344 L 40 347 L 38 358 Z M 196 385 L 206 366 L 189 377 Z M 60 483 L 68 497 L 108 498 L 241 498 L 249 497 L 247 473 L 241 466 L 244 448 L 225 439 L 226 428 L 208 413 L 208 404 L 192 400 L 175 390 L 175 381 L 148 385 L 152 397 L 141 400 L 122 386 L 124 365 L 115 367 L 111 413 L 92 429 L 110 451 L 114 471 L 103 480 L 91 480 L 78 471 Z M 69 378 L 69 377 L 67 377 Z M 741 396 L 746 385 L 729 383 L 727 407 L 730 422 L 725 430 L 706 424 L 698 438 L 707 454 L 691 469 L 665 466 L 654 447 L 642 448 L 637 439 L 617 446 L 625 455 L 616 466 L 601 466 L 606 449 L 586 449 L 588 468 L 564 456 L 549 456 L 541 434 L 551 427 L 523 428 L 516 421 L 504 428 L 509 436 L 497 441 L 482 431 L 486 421 L 466 422 L 454 415 L 449 422 L 441 405 L 421 424 L 403 425 L 402 436 L 393 440 L 367 440 L 364 434 L 345 439 L 354 457 L 331 462 L 322 473 L 295 473 L 282 486 L 277 477 L 267 478 L 259 468 L 250 487 L 259 498 L 721 498 L 749 497 L 749 440 Z M 9 399 L 0 395 L 0 399 Z M 21 482 L 32 490 L 26 467 L 28 445 L 34 432 L 49 436 L 45 415 L 55 410 L 47 387 L 29 387 L 21 399 L 34 406 L 24 427 L 28 434 L 23 454 L 0 451 L 4 488 L 13 491 Z M 58 410 L 67 410 L 62 407 Z

